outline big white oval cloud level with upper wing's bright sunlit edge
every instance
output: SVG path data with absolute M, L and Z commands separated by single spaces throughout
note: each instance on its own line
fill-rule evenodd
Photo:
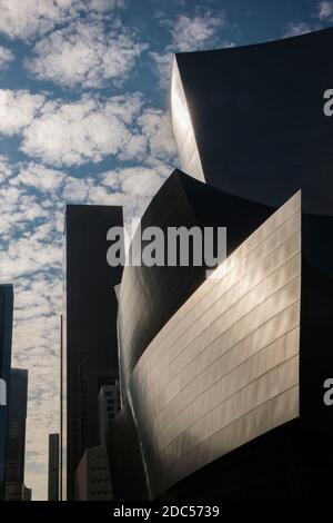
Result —
M 21 149 L 54 166 L 98 162 L 119 154 L 131 140 L 129 124 L 140 107 L 139 95 L 105 102 L 88 96 L 72 103 L 50 101 L 23 129 Z

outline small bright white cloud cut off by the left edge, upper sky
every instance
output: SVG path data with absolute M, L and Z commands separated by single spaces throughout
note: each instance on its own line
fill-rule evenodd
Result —
M 29 126 L 43 102 L 41 95 L 0 89 L 0 134 L 12 136 Z

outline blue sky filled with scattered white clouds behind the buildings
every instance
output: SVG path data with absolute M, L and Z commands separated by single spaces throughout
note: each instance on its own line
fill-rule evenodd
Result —
M 333 1 L 0 0 L 0 280 L 16 290 L 13 365 L 29 369 L 27 483 L 47 492 L 59 430 L 65 203 L 140 216 L 178 167 L 172 53 L 300 34 Z

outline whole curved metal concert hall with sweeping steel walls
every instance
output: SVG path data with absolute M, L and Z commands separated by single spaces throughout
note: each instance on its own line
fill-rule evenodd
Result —
M 331 495 L 333 30 L 174 57 L 180 167 L 141 226 L 226 227 L 205 266 L 127 266 L 119 500 Z

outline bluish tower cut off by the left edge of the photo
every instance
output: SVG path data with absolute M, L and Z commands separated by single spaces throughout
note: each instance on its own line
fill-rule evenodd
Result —
M 13 287 L 0 285 L 0 500 L 4 496 L 4 467 L 8 434 L 8 396 L 11 364 Z

